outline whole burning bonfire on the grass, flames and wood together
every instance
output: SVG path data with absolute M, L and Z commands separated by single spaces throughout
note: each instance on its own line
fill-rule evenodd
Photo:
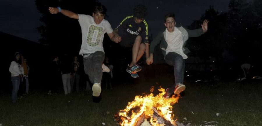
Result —
M 173 95 L 165 99 L 165 89 L 158 89 L 156 96 L 151 93 L 145 96 L 136 96 L 134 101 L 128 102 L 125 109 L 115 116 L 121 126 L 176 126 L 172 106 L 177 103 L 178 96 Z

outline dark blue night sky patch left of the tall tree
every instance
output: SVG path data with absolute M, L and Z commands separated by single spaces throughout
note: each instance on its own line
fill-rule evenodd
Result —
M 1 0 L 0 31 L 37 42 L 41 22 L 34 0 Z

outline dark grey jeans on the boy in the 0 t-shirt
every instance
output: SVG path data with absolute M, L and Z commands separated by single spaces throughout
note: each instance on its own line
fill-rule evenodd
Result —
M 88 75 L 92 84 L 101 84 L 103 75 L 102 64 L 104 59 L 105 53 L 102 51 L 96 51 L 88 57 L 84 57 L 84 71 Z

